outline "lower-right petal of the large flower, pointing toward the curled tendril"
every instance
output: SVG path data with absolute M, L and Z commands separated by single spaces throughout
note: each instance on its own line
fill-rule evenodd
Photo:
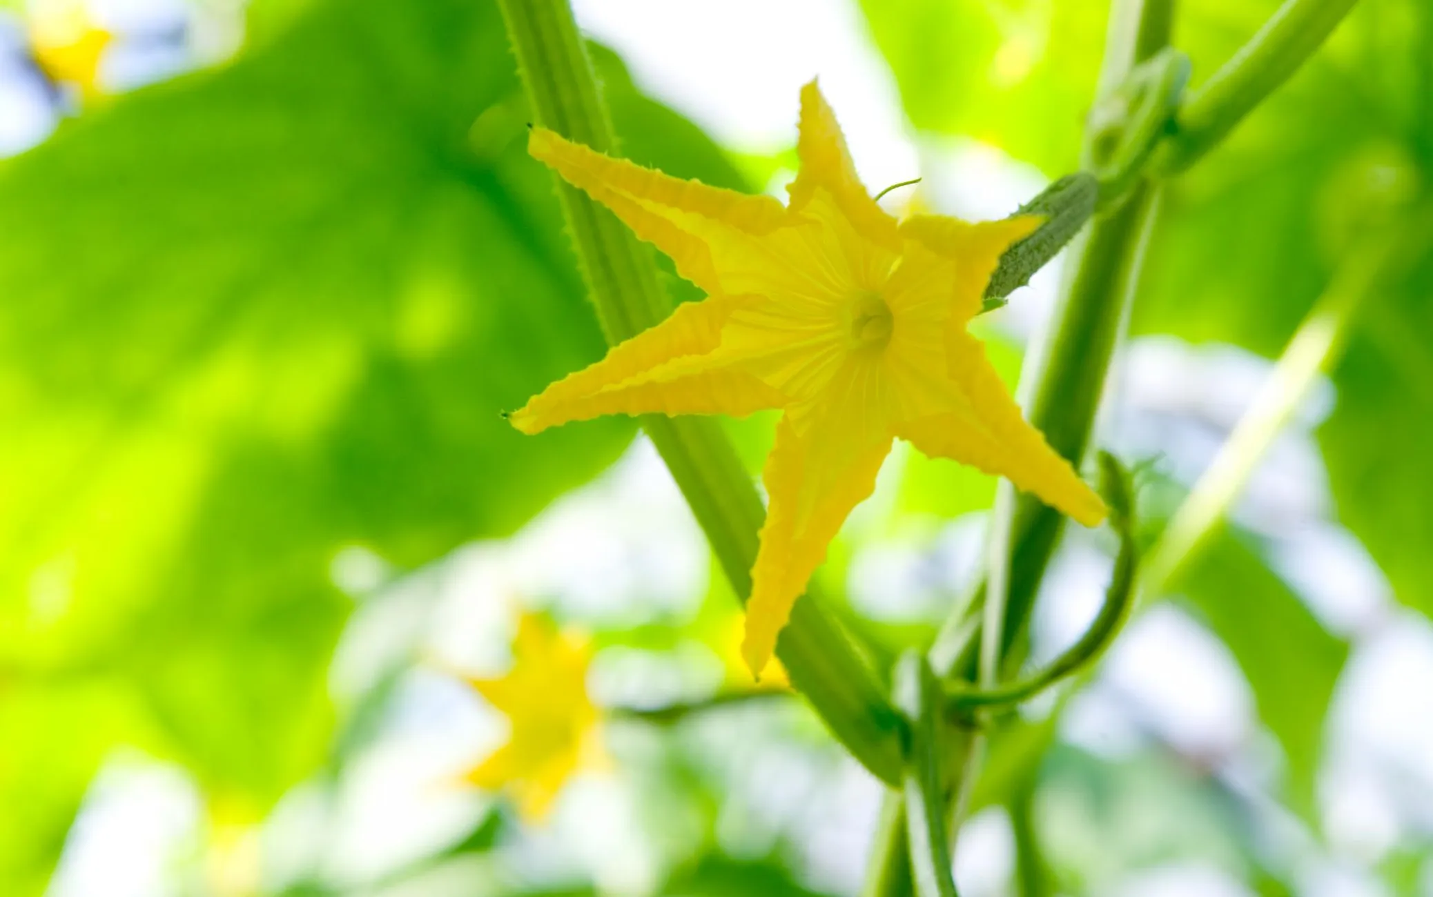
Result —
M 957 342 L 949 357 L 954 384 L 947 410 L 898 423 L 896 434 L 927 457 L 952 459 L 1007 477 L 1079 523 L 1098 526 L 1108 513 L 1105 503 L 1025 420 L 980 341 L 960 334 Z

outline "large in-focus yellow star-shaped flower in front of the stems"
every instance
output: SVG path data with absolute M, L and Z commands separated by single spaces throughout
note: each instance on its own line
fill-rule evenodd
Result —
M 827 545 L 891 440 L 1006 476 L 1086 526 L 1105 506 L 1020 416 L 966 332 L 1030 216 L 897 222 L 861 186 L 815 82 L 801 92 L 801 172 L 782 206 L 612 159 L 537 128 L 529 152 L 672 256 L 708 298 L 552 384 L 512 423 L 600 414 L 784 411 L 742 655 L 759 675 Z

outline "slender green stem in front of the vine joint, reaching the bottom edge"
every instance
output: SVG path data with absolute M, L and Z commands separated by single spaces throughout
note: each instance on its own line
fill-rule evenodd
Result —
M 946 728 L 944 695 L 926 658 L 916 651 L 906 652 L 896 665 L 894 691 L 896 705 L 904 711 L 910 724 L 910 757 L 903 794 L 916 894 L 957 897 L 946 827 L 949 801 L 941 744 Z

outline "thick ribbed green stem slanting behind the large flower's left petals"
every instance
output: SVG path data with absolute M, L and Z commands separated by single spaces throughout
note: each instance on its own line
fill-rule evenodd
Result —
M 502 0 L 502 10 L 536 122 L 613 152 L 612 123 L 566 0 Z M 672 305 L 651 248 L 560 179 L 557 193 L 608 342 L 620 342 L 666 318 Z M 642 427 L 732 589 L 745 600 L 765 512 L 731 441 L 709 418 L 648 416 Z M 896 785 L 901 781 L 904 724 L 814 592 L 808 589 L 797 602 L 777 655 L 831 732 L 877 778 Z

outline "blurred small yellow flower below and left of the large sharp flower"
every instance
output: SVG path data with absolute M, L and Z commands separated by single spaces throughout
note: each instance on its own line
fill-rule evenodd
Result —
M 552 808 L 563 784 L 600 755 L 598 708 L 588 698 L 592 651 L 535 615 L 523 615 L 513 666 L 499 679 L 469 679 L 507 716 L 507 742 L 467 774 L 486 791 L 507 791 L 532 821 Z

